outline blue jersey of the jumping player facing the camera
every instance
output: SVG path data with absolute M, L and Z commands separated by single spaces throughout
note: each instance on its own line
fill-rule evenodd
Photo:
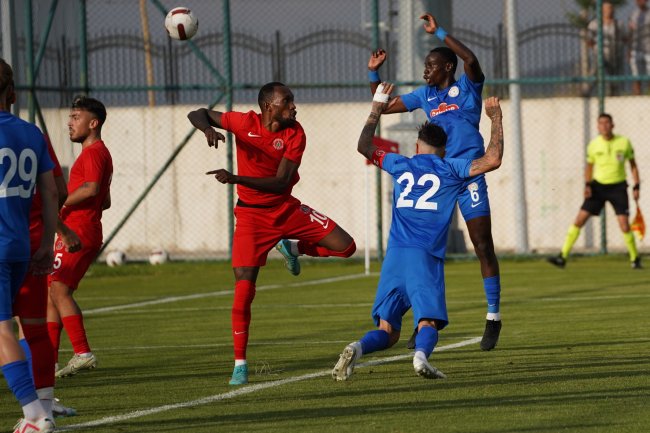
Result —
M 483 137 L 479 133 L 481 120 L 481 92 L 483 83 L 474 83 L 467 75 L 446 89 L 435 86 L 418 87 L 411 93 L 400 95 L 409 110 L 421 108 L 429 122 L 447 133 L 449 158 L 476 159 L 483 156 Z

